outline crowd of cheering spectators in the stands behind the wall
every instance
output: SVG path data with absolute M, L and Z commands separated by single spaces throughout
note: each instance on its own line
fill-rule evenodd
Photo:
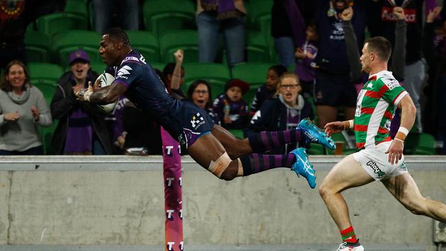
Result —
M 317 118 L 320 127 L 339 116 L 353 119 L 357 92 L 367 78 L 360 70 L 359 48 L 368 36 L 384 36 L 393 47 L 390 71 L 417 108 L 414 131 L 433 134 L 440 144 L 446 140 L 446 116 L 442 116 L 446 110 L 442 98 L 446 94 L 446 14 L 436 7 L 435 0 L 271 1 L 269 35 L 277 62 L 271 62 L 263 86 L 253 90 L 246 80 L 231 79 L 224 92 L 215 96 L 207 79 L 194 80 L 184 88 L 185 54 L 178 49 L 172 55 L 175 62 L 154 69 L 172 97 L 188 99 L 207 110 L 215 123 L 244 130 L 244 136 L 263 130 L 288 130 L 305 117 Z M 255 5 L 255 1 L 247 2 Z M 82 49 L 69 55 L 69 71 L 56 82 L 51 104 L 45 102 L 30 83 L 23 34 L 38 15 L 61 6 L 45 1 L 46 9 L 25 16 L 35 2 L 26 0 L 23 4 L 28 8 L 18 13 L 19 19 L 0 19 L 4 68 L 0 154 L 43 154 L 35 125 L 49 126 L 53 120 L 58 121 L 51 141 L 54 154 L 134 154 L 134 149 L 137 154 L 161 154 L 159 125 L 126 97 L 119 99 L 111 114 L 75 99 L 74 93 L 95 82 L 100 73 L 91 70 L 89 55 Z M 137 0 L 92 0 L 93 29 L 104 32 L 111 25 L 141 29 L 140 5 Z M 228 67 L 246 61 L 249 12 L 244 1 L 197 0 L 196 6 L 198 61 L 216 62 L 220 33 Z M 122 14 L 119 22 L 112 22 L 113 10 Z M 244 99 L 248 91 L 255 93 L 253 100 Z M 287 145 L 271 152 L 290 152 L 295 147 Z

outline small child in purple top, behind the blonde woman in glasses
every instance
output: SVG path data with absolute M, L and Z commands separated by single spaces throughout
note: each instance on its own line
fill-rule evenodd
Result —
M 305 32 L 307 39 L 302 47 L 296 49 L 296 68 L 294 72 L 301 79 L 303 96 L 305 98 L 313 96 L 314 67 L 316 66 L 316 55 L 318 54 L 318 32 L 316 23 L 311 23 Z

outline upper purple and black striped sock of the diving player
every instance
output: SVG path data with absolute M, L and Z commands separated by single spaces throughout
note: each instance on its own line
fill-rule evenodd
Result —
M 265 152 L 287 143 L 301 140 L 301 132 L 293 129 L 281 132 L 259 132 L 248 137 L 253 152 Z

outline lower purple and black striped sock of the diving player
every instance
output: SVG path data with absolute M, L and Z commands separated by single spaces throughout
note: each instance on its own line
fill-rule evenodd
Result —
M 296 162 L 296 156 L 294 154 L 248 154 L 240 157 L 240 160 L 243 165 L 243 176 L 248 176 L 277 167 L 291 168 Z

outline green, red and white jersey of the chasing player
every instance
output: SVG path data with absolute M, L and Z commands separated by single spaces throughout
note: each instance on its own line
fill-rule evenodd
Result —
M 397 104 L 407 94 L 390 71 L 368 77 L 356 101 L 353 130 L 358 149 L 392 140 L 390 122 Z

